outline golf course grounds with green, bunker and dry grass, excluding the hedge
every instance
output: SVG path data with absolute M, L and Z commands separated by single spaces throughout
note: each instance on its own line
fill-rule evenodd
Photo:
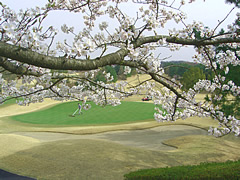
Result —
M 115 107 L 87 102 L 91 108 L 81 114 L 77 101 L 4 104 L 0 169 L 43 180 L 121 180 L 139 169 L 239 160 L 238 137 L 208 135 L 216 121 L 192 117 L 158 123 L 153 102 L 141 98 L 129 97 Z

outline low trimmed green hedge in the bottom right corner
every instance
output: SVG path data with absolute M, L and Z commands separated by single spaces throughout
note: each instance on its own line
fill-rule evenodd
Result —
M 201 163 L 197 166 L 175 166 L 146 169 L 126 174 L 126 180 L 158 179 L 239 179 L 240 160 L 224 163 Z

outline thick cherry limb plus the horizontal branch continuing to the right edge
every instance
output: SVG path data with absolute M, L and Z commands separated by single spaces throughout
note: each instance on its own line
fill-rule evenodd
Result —
M 183 39 L 169 36 L 149 36 L 139 38 L 133 42 L 135 48 L 143 44 L 157 42 L 165 38 L 167 42 L 182 45 L 206 46 L 220 43 L 240 43 L 240 38 L 218 38 L 214 40 L 193 40 Z M 64 57 L 51 57 L 31 51 L 30 49 L 11 45 L 5 42 L 0 42 L 0 56 L 10 58 L 22 63 L 35 65 L 37 67 L 59 69 L 59 70 L 93 70 L 106 65 L 125 65 L 137 67 L 138 63 L 132 61 L 124 61 L 124 57 L 128 55 L 129 51 L 122 48 L 114 53 L 102 56 L 92 60 L 83 59 L 68 59 Z

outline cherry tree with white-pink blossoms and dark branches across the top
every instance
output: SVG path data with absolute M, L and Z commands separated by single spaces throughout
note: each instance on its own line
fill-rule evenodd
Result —
M 154 117 L 159 122 L 211 116 L 219 122 L 219 127 L 210 127 L 210 134 L 218 137 L 235 133 L 239 136 L 240 121 L 236 117 L 225 116 L 211 99 L 197 102 L 195 97 L 202 91 L 211 94 L 216 90 L 231 91 L 235 97 L 240 95 L 240 87 L 233 81 L 226 81 L 217 71 L 221 69 L 227 74 L 228 65 L 240 64 L 240 14 L 224 33 L 219 33 L 218 26 L 224 20 L 214 29 L 198 22 L 185 23 L 187 17 L 181 7 L 194 1 L 133 0 L 131 3 L 138 7 L 134 17 L 121 9 L 122 3 L 129 2 L 49 0 L 45 7 L 19 12 L 0 3 L 0 70 L 18 77 L 6 81 L 0 74 L 1 104 L 16 99 L 19 105 L 28 105 L 52 98 L 116 106 L 124 98 L 144 92 L 154 98 L 156 105 L 162 105 L 162 109 L 155 108 Z M 79 14 L 85 25 L 80 31 L 67 24 L 62 24 L 61 29 L 46 26 L 45 20 L 54 11 Z M 103 20 L 106 18 L 108 21 Z M 183 24 L 184 28 L 170 30 L 168 35 L 159 34 L 159 29 L 172 20 Z M 60 32 L 66 35 L 63 41 L 57 41 Z M 230 50 L 216 52 L 216 45 L 227 45 Z M 215 76 L 212 80 L 199 80 L 187 91 L 181 89 L 178 81 L 164 75 L 160 66 L 163 58 L 157 55 L 160 48 L 178 51 L 184 46 L 194 47 L 194 61 L 211 69 Z M 111 83 L 112 77 L 105 73 L 107 82 L 95 82 L 97 72 L 109 65 L 124 66 L 126 74 L 136 68 L 150 78 L 129 87 L 124 81 Z M 70 80 L 74 85 L 67 83 Z M 17 81 L 21 81 L 20 86 Z M 156 84 L 161 84 L 162 88 L 156 88 Z M 212 100 L 220 101 L 221 96 L 215 94 Z

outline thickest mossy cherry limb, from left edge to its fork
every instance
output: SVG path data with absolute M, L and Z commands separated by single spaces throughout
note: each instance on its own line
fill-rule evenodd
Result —
M 136 62 L 123 61 L 127 54 L 127 49 L 120 49 L 114 53 L 93 60 L 68 59 L 64 57 L 46 56 L 31 51 L 30 49 L 0 42 L 1 57 L 10 58 L 37 67 L 57 70 L 94 70 L 113 64 L 137 67 L 138 64 Z

